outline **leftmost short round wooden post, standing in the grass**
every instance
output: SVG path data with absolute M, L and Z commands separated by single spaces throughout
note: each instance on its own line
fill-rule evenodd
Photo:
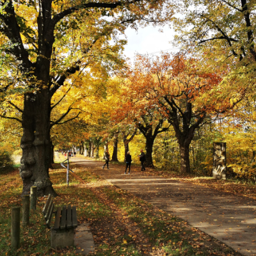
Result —
M 20 207 L 12 207 L 11 222 L 11 247 L 17 250 L 20 246 Z

